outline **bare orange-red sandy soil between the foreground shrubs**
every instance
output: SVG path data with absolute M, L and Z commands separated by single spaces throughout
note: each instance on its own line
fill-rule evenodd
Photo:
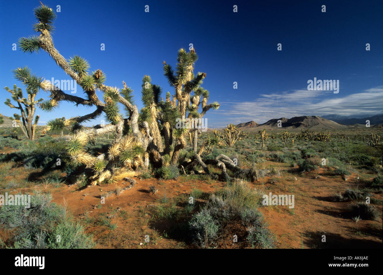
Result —
M 4 164 L 0 164 L 4 165 Z M 27 172 L 22 167 L 11 169 L 13 176 L 24 180 Z M 319 171 L 319 172 L 318 172 Z M 63 174 L 64 175 L 64 174 Z M 321 175 L 315 178 L 315 175 Z M 318 169 L 316 174 L 290 175 L 280 177 L 277 183 L 269 183 L 270 178 L 264 178 L 250 186 L 264 190 L 266 194 L 294 194 L 295 208 L 288 206 L 264 206 L 259 208 L 263 213 L 268 228 L 275 234 L 277 248 L 321 248 L 321 236 L 326 235 L 326 245 L 332 247 L 352 248 L 381 248 L 382 246 L 382 205 L 378 205 L 380 213 L 378 221 L 361 220 L 355 223 L 347 213 L 349 202 L 334 202 L 336 193 L 344 192 L 347 188 L 362 188 L 363 184 L 350 176 L 344 181 L 340 176 L 331 176 L 327 170 Z M 295 179 L 296 177 L 296 179 Z M 8 179 L 8 178 L 7 178 Z M 96 248 L 188 248 L 182 240 L 165 237 L 166 224 L 153 224 L 151 221 L 151 207 L 156 201 L 166 195 L 169 198 L 189 194 L 193 188 L 203 192 L 213 193 L 226 183 L 218 181 L 145 179 L 137 180 L 137 185 L 125 190 L 120 195 L 112 194 L 105 199 L 105 204 L 98 208 L 100 195 L 105 191 L 115 190 L 115 185 L 88 186 L 79 190 L 77 186 L 63 185 L 59 188 L 44 187 L 39 184 L 28 188 L 20 188 L 17 192 L 32 192 L 41 190 L 51 192 L 53 202 L 66 206 L 67 211 L 86 224 L 86 231 L 92 233 L 97 243 Z M 182 182 L 184 181 L 184 182 Z M 124 188 L 128 183 L 120 182 Z M 158 192 L 149 192 L 149 186 L 154 185 Z M 87 194 L 86 196 L 84 196 Z M 375 192 L 373 198 L 382 200 L 382 193 Z M 202 201 L 202 200 L 201 200 Z M 125 212 L 126 211 L 126 212 Z M 123 214 L 121 214 L 123 213 Z M 107 218 L 109 217 L 109 218 Z M 116 223 L 112 230 L 108 226 L 97 224 L 97 220 L 106 219 Z M 87 222 L 88 221 L 88 222 Z M 219 247 L 240 248 L 242 245 L 242 229 L 236 225 L 228 225 L 229 231 L 239 232 L 238 244 L 232 243 L 232 237 L 226 236 Z M 157 228 L 157 229 L 156 229 Z M 149 235 L 151 242 L 145 242 L 145 235 Z M 4 232 L 0 232 L 4 237 Z

